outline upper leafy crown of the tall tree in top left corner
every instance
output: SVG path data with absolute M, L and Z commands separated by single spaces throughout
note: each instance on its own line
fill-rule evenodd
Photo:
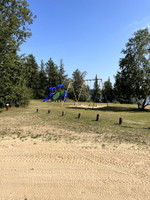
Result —
M 19 47 L 27 37 L 31 36 L 27 24 L 33 23 L 33 14 L 28 8 L 26 0 L 0 1 L 0 44 L 2 52 L 11 51 L 12 47 Z M 14 48 L 14 49 L 15 49 Z

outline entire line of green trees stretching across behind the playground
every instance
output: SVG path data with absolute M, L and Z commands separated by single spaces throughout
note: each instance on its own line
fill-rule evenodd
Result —
M 100 89 L 97 75 L 94 88 L 84 83 L 86 72 L 76 69 L 71 78 L 64 69 L 63 60 L 59 65 L 52 58 L 38 66 L 34 55 L 19 56 L 19 47 L 32 35 L 28 28 L 36 16 L 29 9 L 26 0 L 0 1 L 0 107 L 6 103 L 25 106 L 30 98 L 44 98 L 49 87 L 68 85 L 72 81 L 69 98 L 94 102 L 137 103 L 139 109 L 149 104 L 150 96 L 150 33 L 141 29 L 133 34 L 122 50 L 119 70 Z M 90 95 L 89 95 L 90 94 Z M 75 97 L 76 96 L 76 97 Z

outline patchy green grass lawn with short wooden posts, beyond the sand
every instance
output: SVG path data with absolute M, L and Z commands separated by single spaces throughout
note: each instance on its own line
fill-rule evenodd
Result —
M 80 106 L 87 105 L 87 108 Z M 88 140 L 100 144 L 133 143 L 150 146 L 150 109 L 138 111 L 137 105 L 97 104 L 92 108 L 89 103 L 80 103 L 74 107 L 73 102 L 42 102 L 31 100 L 26 108 L 0 110 L 0 139 L 20 138 L 22 141 L 41 138 L 51 141 Z M 39 109 L 39 112 L 36 110 Z M 50 114 L 48 114 L 50 110 Z M 62 112 L 65 111 L 65 116 Z M 78 114 L 81 113 L 81 119 Z M 96 121 L 96 115 L 100 120 Z M 123 123 L 119 125 L 119 118 Z

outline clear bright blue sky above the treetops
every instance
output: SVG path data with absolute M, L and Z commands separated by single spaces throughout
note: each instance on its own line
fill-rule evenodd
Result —
M 71 78 L 79 69 L 115 82 L 128 39 L 150 28 L 150 0 L 27 0 L 37 18 L 20 53 L 33 54 L 40 66 L 50 58 Z

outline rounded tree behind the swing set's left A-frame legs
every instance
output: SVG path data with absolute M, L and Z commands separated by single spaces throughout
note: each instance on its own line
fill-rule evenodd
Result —
M 86 72 L 80 72 L 80 70 L 76 69 L 72 74 L 72 82 L 73 88 L 76 95 L 76 98 L 80 101 L 86 101 L 89 98 L 89 91 L 84 84 L 84 78 L 86 76 Z M 75 99 L 74 92 L 69 92 L 69 98 Z

